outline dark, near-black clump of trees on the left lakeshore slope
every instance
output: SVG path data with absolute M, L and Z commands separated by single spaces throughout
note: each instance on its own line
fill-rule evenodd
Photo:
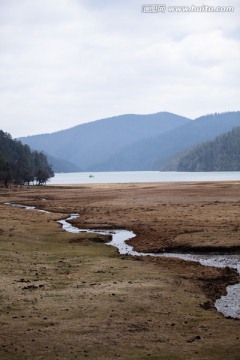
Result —
M 0 182 L 7 186 L 10 181 L 29 184 L 35 180 L 41 185 L 52 176 L 54 173 L 43 153 L 31 151 L 28 145 L 0 130 Z

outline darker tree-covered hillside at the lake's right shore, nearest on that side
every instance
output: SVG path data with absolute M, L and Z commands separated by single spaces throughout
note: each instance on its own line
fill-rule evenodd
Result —
M 240 127 L 180 157 L 178 171 L 240 171 Z

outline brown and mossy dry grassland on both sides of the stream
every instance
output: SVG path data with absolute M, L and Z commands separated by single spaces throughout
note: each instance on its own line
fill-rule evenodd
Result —
M 240 359 L 240 322 L 213 306 L 235 271 L 120 256 L 64 232 L 69 213 L 81 228 L 133 230 L 140 251 L 240 250 L 239 183 L 0 189 L 1 359 Z

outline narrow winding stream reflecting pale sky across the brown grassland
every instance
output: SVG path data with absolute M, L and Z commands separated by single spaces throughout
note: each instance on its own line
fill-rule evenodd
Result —
M 5 205 L 17 206 L 26 210 L 37 210 L 42 213 L 50 213 L 46 210 L 40 210 L 34 206 L 25 206 L 15 203 L 5 203 Z M 57 220 L 61 224 L 62 228 L 71 233 L 95 233 L 101 235 L 111 235 L 112 240 L 106 245 L 114 246 L 118 249 L 121 255 L 133 255 L 133 256 L 157 256 L 157 257 L 171 257 L 178 258 L 186 261 L 196 261 L 204 266 L 213 266 L 218 268 L 230 267 L 237 269 L 240 275 L 240 255 L 197 255 L 197 254 L 181 254 L 181 253 L 141 253 L 133 250 L 131 245 L 126 244 L 126 241 L 135 237 L 132 231 L 128 230 L 88 230 L 79 229 L 69 223 L 70 220 L 78 218 L 79 214 L 70 214 L 70 216 L 64 220 Z M 234 319 L 240 319 L 240 283 L 230 285 L 227 287 L 227 294 L 222 296 L 215 302 L 215 308 L 222 313 L 225 317 L 231 317 Z

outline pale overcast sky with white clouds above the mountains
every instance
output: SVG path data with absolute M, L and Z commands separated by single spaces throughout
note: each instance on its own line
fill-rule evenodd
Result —
M 0 0 L 0 129 L 240 110 L 239 40 L 239 0 Z

